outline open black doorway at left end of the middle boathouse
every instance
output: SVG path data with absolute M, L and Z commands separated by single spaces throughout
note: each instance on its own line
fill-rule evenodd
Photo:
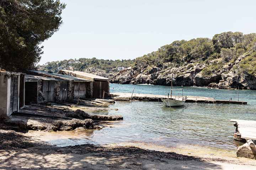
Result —
M 37 103 L 37 82 L 25 82 L 25 104 Z

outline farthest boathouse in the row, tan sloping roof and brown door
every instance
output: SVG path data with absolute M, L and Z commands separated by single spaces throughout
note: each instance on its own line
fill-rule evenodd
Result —
M 105 94 L 104 96 L 108 96 L 109 94 L 110 89 L 109 89 L 108 78 L 90 74 L 90 73 L 72 71 L 72 70 L 59 70 L 59 74 L 72 75 L 77 78 L 91 80 L 92 81 L 90 84 L 91 98 L 102 98 L 104 92 L 107 92 L 107 94 Z

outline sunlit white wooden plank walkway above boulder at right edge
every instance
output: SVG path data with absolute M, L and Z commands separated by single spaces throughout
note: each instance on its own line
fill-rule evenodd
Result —
M 256 140 L 256 121 L 231 119 L 235 122 L 236 131 L 240 133 L 241 138 Z

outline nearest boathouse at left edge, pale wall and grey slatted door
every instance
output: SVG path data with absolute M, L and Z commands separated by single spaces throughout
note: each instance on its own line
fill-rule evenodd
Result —
M 0 117 L 25 106 L 25 74 L 0 71 Z

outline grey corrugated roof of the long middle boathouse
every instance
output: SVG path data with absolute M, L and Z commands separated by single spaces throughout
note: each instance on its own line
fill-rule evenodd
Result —
M 77 78 L 77 77 L 74 77 L 74 76 L 71 76 L 71 75 L 63 75 L 63 74 L 58 74 L 58 73 L 48 73 L 48 72 L 45 72 L 45 71 L 37 71 L 37 70 L 30 70 L 29 72 L 31 73 L 35 73 L 35 74 L 38 74 L 38 75 L 45 75 L 47 76 L 50 76 L 52 78 L 57 78 L 57 79 L 63 79 L 63 80 L 73 80 L 75 82 L 90 82 L 91 80 L 89 79 L 82 79 L 82 78 Z

